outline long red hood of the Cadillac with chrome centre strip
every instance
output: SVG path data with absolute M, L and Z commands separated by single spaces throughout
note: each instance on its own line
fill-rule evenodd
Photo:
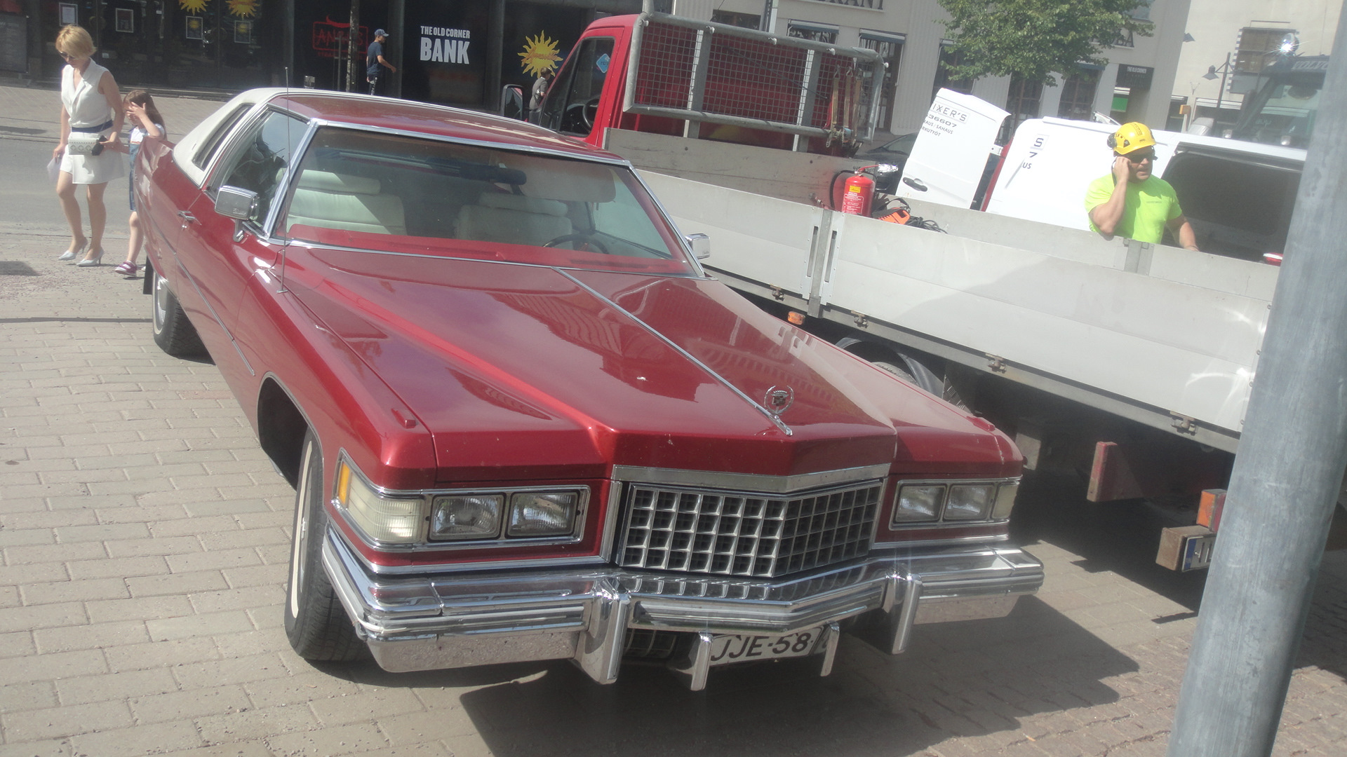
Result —
M 1018 467 L 983 422 L 714 280 L 291 248 L 287 286 L 435 435 L 442 481 Z

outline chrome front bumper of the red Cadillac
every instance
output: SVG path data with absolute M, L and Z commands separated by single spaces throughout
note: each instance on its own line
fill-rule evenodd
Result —
M 490 574 L 370 575 L 329 531 L 323 566 L 356 630 L 393 672 L 571 659 L 617 680 L 626 629 L 690 632 L 669 663 L 699 690 L 717 634 L 822 628 L 823 675 L 842 621 L 884 652 L 907 648 L 913 624 L 1001 617 L 1043 585 L 1043 563 L 1013 547 L 872 552 L 783 579 L 664 574 L 614 567 Z

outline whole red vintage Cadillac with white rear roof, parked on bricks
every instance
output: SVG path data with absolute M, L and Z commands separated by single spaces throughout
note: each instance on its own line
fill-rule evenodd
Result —
M 1043 582 L 1014 445 L 709 276 L 616 155 L 260 89 L 147 140 L 135 191 L 155 341 L 209 352 L 295 486 L 303 657 L 702 688 Z

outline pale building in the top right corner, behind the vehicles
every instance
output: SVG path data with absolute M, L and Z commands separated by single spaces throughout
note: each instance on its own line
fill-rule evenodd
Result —
M 1191 0 L 1188 38 L 1175 77 L 1171 128 L 1192 117 L 1234 124 L 1258 71 L 1278 55 L 1328 55 L 1338 0 Z M 1284 47 L 1285 46 L 1285 47 Z M 1191 105 L 1180 114 L 1179 105 Z M 1185 117 L 1187 116 L 1187 117 Z

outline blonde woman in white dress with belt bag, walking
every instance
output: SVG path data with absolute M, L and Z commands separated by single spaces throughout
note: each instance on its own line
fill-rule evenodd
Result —
M 102 230 L 108 224 L 108 209 L 102 193 L 108 182 L 125 175 L 127 167 L 120 147 L 121 93 L 112 73 L 93 62 L 96 48 L 89 32 L 70 24 L 57 34 L 57 53 L 66 59 L 61 71 L 61 143 L 51 156 L 61 160 L 57 175 L 57 197 L 61 210 L 70 224 L 70 246 L 58 260 L 75 260 L 75 265 L 98 265 L 102 260 Z M 105 148 L 100 155 L 70 155 L 66 145 L 71 132 L 97 133 Z M 85 186 L 89 199 L 89 237 L 84 234 L 75 187 Z M 89 252 L 79 257 L 85 245 Z

